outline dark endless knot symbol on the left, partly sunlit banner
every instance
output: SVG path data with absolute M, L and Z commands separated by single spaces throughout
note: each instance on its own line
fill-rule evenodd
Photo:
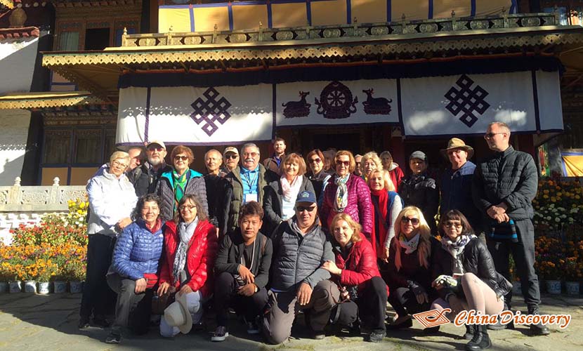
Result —
M 231 103 L 225 98 L 220 98 L 216 100 L 218 91 L 215 88 L 208 88 L 207 91 L 202 93 L 202 95 L 207 98 L 207 100 L 202 100 L 202 98 L 197 98 L 195 102 L 192 102 L 190 106 L 195 110 L 190 114 L 190 117 L 197 122 L 197 124 L 204 125 L 201 126 L 202 131 L 211 136 L 218 130 L 216 122 L 225 124 L 225 121 L 230 119 L 231 115 L 228 112 Z

